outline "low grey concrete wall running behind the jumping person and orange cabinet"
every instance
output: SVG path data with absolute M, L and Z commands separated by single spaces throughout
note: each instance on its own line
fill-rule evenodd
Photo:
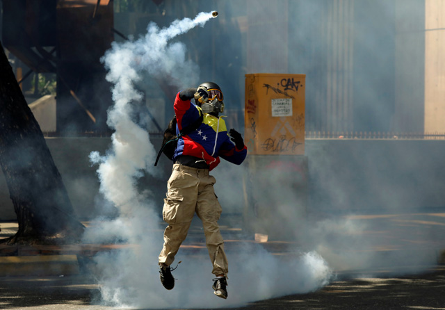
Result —
M 160 137 L 152 137 L 156 149 Z M 82 220 L 115 209 L 99 195 L 92 151 L 105 154 L 108 138 L 47 138 L 76 213 Z M 307 211 L 372 212 L 419 211 L 445 207 L 445 140 L 306 140 L 309 165 Z M 171 163 L 162 156 L 160 177 L 140 179 L 140 190 L 161 213 Z M 246 165 L 223 161 L 212 172 L 224 213 L 243 213 L 243 177 Z M 270 190 L 283 180 L 270 180 Z M 264 182 L 263 182 L 264 183 Z M 273 207 L 273 206 L 271 206 Z M 8 187 L 0 173 L 0 220 L 15 220 Z

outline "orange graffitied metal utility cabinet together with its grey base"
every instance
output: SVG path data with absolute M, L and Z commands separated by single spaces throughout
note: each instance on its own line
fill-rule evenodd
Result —
M 245 228 L 293 239 L 307 204 L 305 75 L 245 75 Z

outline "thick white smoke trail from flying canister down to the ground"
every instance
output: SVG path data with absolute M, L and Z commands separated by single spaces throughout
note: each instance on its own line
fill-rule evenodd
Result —
M 229 276 L 232 293 L 227 301 L 213 295 L 207 254 L 181 264 L 175 271 L 178 280 L 173 291 L 166 291 L 159 282 L 161 219 L 154 205 L 136 188 L 144 172 L 156 174 L 156 152 L 147 131 L 133 120 L 134 105 L 143 98 L 135 83 L 142 83 L 142 74 L 148 73 L 155 78 L 168 76 L 178 87 L 196 85 L 199 68 L 185 60 L 184 44 L 169 41 L 195 26 L 204 26 L 210 18 L 211 13 L 200 13 L 193 20 L 177 20 L 162 29 L 149 24 L 143 38 L 113 43 L 102 59 L 108 70 L 106 78 L 114 85 L 108 126 L 115 133 L 107 154 L 92 152 L 90 161 L 99 165 L 100 192 L 119 209 L 120 215 L 113 220 L 101 219 L 101 224 L 88 229 L 84 238 L 86 242 L 125 241 L 138 245 L 95 256 L 95 274 L 106 304 L 144 308 L 227 307 L 284 293 L 314 291 L 330 278 L 330 268 L 314 252 L 287 261 L 283 268 L 283 262 L 259 245 L 245 245 L 246 252 L 233 260 Z M 252 281 L 261 289 L 252 287 L 246 291 Z M 202 296 L 203 291 L 208 293 Z M 243 293 L 236 293 L 240 291 Z

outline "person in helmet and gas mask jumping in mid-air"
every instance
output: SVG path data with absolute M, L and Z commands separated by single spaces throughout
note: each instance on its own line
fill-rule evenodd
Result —
M 195 99 L 194 104 L 191 99 Z M 213 290 L 215 295 L 227 298 L 227 257 L 224 240 L 220 234 L 218 219 L 221 206 L 213 190 L 216 179 L 209 174 L 220 163 L 220 157 L 240 165 L 247 156 L 240 133 L 227 128 L 219 113 L 224 111 L 223 92 L 213 82 L 202 83 L 198 88 L 179 92 L 175 99 L 177 134 L 181 129 L 202 118 L 197 129 L 179 138 L 173 155 L 173 170 L 167 184 L 164 199 L 163 220 L 168 227 L 164 231 L 164 245 L 159 254 L 159 272 L 165 288 L 175 286 L 170 265 L 175 260 L 181 243 L 187 236 L 193 215 L 202 220 L 207 250 L 213 264 Z

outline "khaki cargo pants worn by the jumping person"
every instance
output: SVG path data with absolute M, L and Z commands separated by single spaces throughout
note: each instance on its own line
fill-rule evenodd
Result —
M 227 276 L 229 266 L 224 252 L 223 236 L 218 226 L 222 209 L 213 191 L 215 182 L 216 179 L 209 175 L 208 169 L 173 165 L 162 211 L 163 220 L 168 223 L 168 227 L 164 231 L 164 245 L 159 254 L 159 263 L 168 266 L 173 263 L 196 212 L 202 220 L 207 250 L 213 264 L 212 273 Z

